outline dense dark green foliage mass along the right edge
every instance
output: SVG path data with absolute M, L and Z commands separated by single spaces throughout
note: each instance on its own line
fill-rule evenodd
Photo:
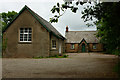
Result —
M 96 22 L 97 37 L 101 37 L 101 42 L 105 44 L 108 53 L 118 55 L 120 54 L 120 2 L 102 3 L 101 8 L 104 13 Z

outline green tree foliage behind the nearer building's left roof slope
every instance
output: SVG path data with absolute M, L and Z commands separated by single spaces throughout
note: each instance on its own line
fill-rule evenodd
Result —
M 0 22 L 2 22 L 2 30 L 5 29 L 7 24 L 9 24 L 16 15 L 17 15 L 17 12 L 15 11 L 11 11 L 11 12 L 8 11 L 8 13 L 5 13 L 5 12 L 1 13 Z

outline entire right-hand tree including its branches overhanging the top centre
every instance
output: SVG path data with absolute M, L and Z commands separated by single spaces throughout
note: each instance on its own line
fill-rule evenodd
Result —
M 76 1 L 77 5 L 83 5 L 86 2 Z M 91 2 L 89 2 L 91 4 Z M 97 37 L 101 38 L 101 43 L 105 45 L 106 51 L 108 53 L 120 54 L 120 2 L 94 2 L 95 5 L 87 6 L 82 11 L 82 19 L 86 21 L 96 19 L 94 24 L 97 26 Z M 77 7 L 74 7 L 70 3 L 65 3 L 60 6 L 54 6 L 51 11 L 52 13 L 59 13 L 50 18 L 50 22 L 57 22 L 60 18 L 60 11 L 70 8 L 72 12 L 77 11 Z M 63 9 L 63 10 L 62 10 Z

